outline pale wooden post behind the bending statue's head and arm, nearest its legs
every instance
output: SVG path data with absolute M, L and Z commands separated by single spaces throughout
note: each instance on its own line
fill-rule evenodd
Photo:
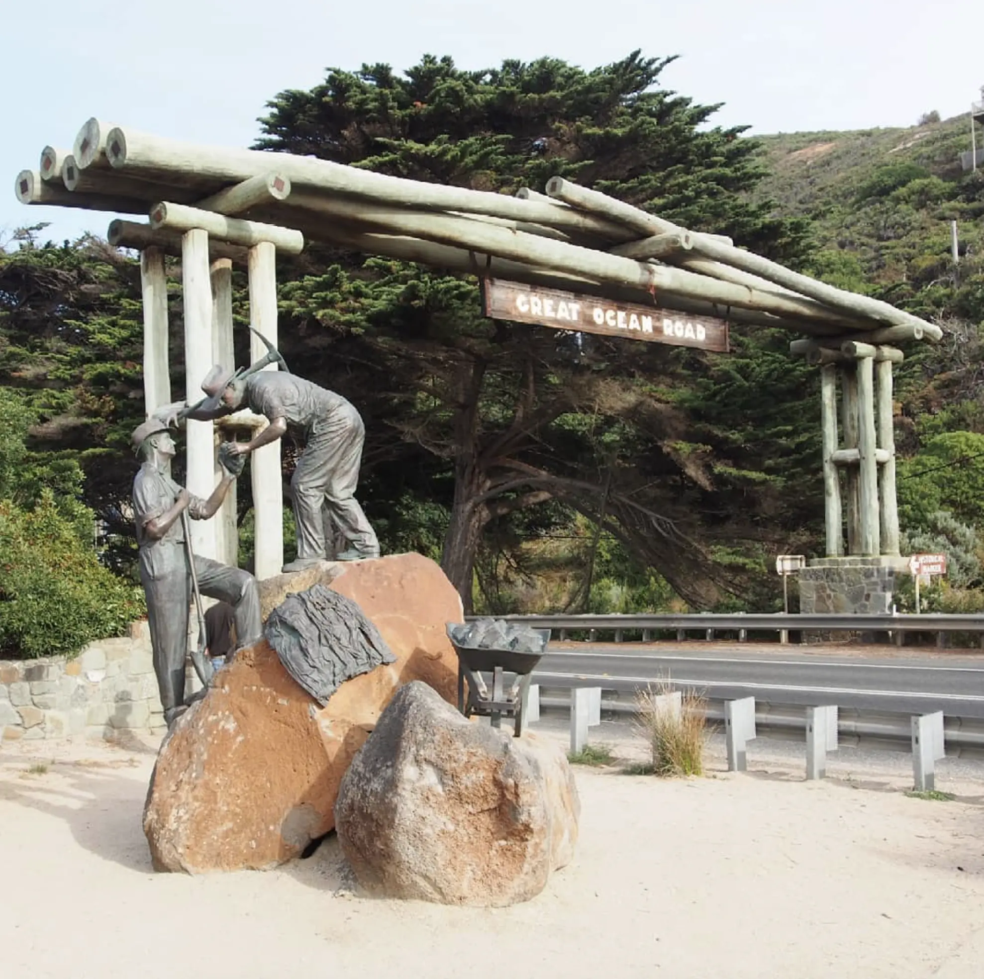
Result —
M 249 309 L 253 329 L 277 345 L 277 249 L 267 241 L 249 250 Z M 267 352 L 259 337 L 250 339 L 251 360 Z M 277 370 L 271 364 L 268 370 Z M 283 566 L 283 481 L 280 443 L 264 446 L 250 460 L 256 551 L 253 574 L 258 580 L 280 574 Z

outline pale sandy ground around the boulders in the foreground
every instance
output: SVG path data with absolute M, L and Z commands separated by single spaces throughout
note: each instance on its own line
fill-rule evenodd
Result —
M 625 727 L 592 734 L 639 754 Z M 932 802 L 899 791 L 904 755 L 841 752 L 806 783 L 801 745 L 756 742 L 749 774 L 710 754 L 691 780 L 579 766 L 575 863 L 485 910 L 360 897 L 334 838 L 270 873 L 154 874 L 153 745 L 4 745 L 0 976 L 984 974 L 984 765 L 941 763 L 958 797 Z

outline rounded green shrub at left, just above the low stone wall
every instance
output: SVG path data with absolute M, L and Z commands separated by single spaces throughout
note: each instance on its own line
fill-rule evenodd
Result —
M 0 500 L 0 654 L 76 655 L 144 611 L 141 589 L 99 564 L 49 489 L 33 510 Z

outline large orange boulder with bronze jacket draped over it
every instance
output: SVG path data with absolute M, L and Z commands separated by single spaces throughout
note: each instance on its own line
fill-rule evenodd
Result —
M 269 643 L 240 651 L 161 745 L 144 809 L 157 870 L 265 869 L 298 856 L 335 826 L 341 777 L 403 684 L 421 680 L 455 702 L 445 625 L 461 622 L 461 599 L 433 561 L 400 554 L 316 571 L 261 582 L 265 611 L 271 593 L 325 583 L 358 603 L 396 662 L 346 680 L 320 707 Z

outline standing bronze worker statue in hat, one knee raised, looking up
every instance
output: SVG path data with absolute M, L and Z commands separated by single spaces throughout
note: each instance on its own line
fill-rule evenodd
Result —
M 133 481 L 134 520 L 140 545 L 140 580 L 147 596 L 147 617 L 154 650 L 154 673 L 168 727 L 185 708 L 185 655 L 192 577 L 182 513 L 192 520 L 209 520 L 222 505 L 236 473 L 234 462 L 223 459 L 222 476 L 208 500 L 194 496 L 167 474 L 174 443 L 167 425 L 152 417 L 131 436 L 142 465 Z M 228 465 L 228 467 L 226 467 Z M 241 466 L 239 466 L 241 468 Z M 263 636 L 260 595 L 248 572 L 194 555 L 195 573 L 204 595 L 228 602 L 235 610 L 239 647 Z

